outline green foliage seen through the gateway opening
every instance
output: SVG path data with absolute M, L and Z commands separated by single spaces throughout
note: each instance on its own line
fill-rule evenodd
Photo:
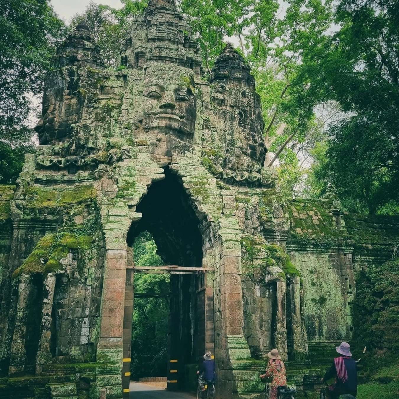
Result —
M 148 231 L 134 240 L 137 266 L 162 265 L 156 244 Z M 168 352 L 168 316 L 170 312 L 169 275 L 136 274 L 134 292 L 153 298 L 135 298 L 132 326 L 131 372 L 133 378 L 166 375 Z

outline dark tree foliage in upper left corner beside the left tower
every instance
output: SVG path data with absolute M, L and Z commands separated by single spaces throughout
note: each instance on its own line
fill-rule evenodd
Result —
M 27 127 L 26 121 L 34 111 L 32 95 L 41 94 L 51 57 L 64 34 L 64 24 L 47 0 L 0 2 L 0 138 L 3 142 L 14 147 L 30 141 L 33 130 Z M 4 152 L 4 148 L 0 151 Z M 11 165 L 19 162 L 19 153 L 20 150 L 15 156 L 7 153 Z M 13 166 L 12 170 L 15 168 L 18 169 Z M 14 179 L 15 172 L 4 177 L 7 173 L 6 165 L 2 164 L 2 179 Z

